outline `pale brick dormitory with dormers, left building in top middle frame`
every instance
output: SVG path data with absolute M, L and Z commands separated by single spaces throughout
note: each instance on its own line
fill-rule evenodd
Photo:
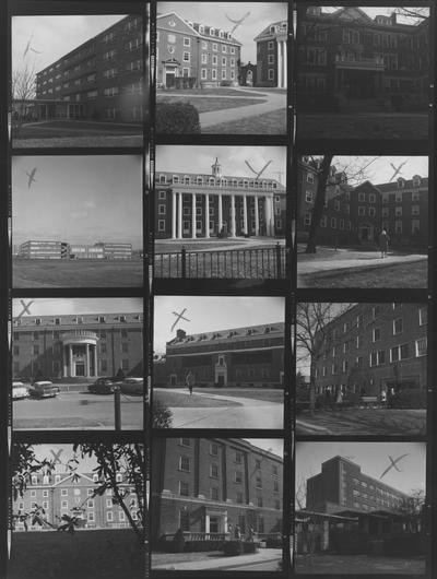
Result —
M 241 45 L 222 28 L 190 22 L 176 12 L 156 20 L 158 87 L 236 86 Z

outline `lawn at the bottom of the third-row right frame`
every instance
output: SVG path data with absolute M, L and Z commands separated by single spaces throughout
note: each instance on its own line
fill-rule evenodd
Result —
M 304 424 L 299 424 L 302 421 Z M 327 430 L 311 430 L 315 425 Z M 344 409 L 341 411 L 317 411 L 297 415 L 297 434 L 333 435 L 383 435 L 383 436 L 424 436 L 426 435 L 425 410 L 398 409 Z

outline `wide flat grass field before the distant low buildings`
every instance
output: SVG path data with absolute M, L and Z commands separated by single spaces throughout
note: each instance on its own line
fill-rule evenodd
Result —
M 138 287 L 142 260 L 13 259 L 13 287 Z

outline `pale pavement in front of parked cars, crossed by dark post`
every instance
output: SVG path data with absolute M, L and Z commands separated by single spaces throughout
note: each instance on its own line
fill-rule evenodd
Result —
M 107 428 L 113 429 L 114 397 L 87 392 L 61 392 L 46 400 L 16 400 L 13 403 L 13 427 L 34 428 Z M 142 397 L 121 394 L 121 428 L 142 429 Z

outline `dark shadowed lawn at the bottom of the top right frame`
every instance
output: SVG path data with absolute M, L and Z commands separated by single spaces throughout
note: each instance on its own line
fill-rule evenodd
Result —
M 297 115 L 298 139 L 428 139 L 427 115 Z

